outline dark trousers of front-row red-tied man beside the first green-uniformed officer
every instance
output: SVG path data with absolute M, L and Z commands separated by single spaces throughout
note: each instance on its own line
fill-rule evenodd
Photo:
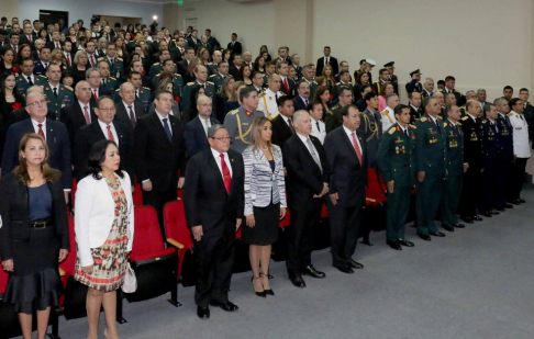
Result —
M 332 261 L 335 267 L 346 265 L 358 242 L 361 204 L 347 207 L 329 202 L 327 206 Z

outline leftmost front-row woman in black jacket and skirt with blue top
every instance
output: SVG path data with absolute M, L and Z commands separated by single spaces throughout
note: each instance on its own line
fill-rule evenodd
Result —
M 37 309 L 37 338 L 44 339 L 51 307 L 63 294 L 58 262 L 69 250 L 69 233 L 60 172 L 48 167 L 48 146 L 38 134 L 20 144 L 20 166 L 0 184 L 0 253 L 10 272 L 3 295 L 14 304 L 24 339 L 32 338 Z

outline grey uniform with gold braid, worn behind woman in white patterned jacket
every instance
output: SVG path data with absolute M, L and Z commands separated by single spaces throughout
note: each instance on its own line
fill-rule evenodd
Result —
M 256 117 L 263 117 L 259 111 L 251 112 L 244 106 L 230 111 L 224 117 L 224 127 L 232 138 L 231 148 L 242 154 L 251 145 L 252 124 Z

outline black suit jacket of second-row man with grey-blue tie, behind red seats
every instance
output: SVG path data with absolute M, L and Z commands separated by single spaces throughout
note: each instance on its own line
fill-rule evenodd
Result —
M 142 116 L 135 125 L 134 159 L 140 182 L 151 180 L 154 191 L 165 192 L 178 185 L 178 170 L 183 177 L 186 147 L 180 121 L 169 114 L 173 142 L 169 142 L 157 113 Z

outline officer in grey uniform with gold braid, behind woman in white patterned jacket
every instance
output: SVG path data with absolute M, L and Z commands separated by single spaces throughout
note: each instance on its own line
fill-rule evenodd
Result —
M 235 151 L 243 152 L 251 145 L 252 123 L 256 117 L 263 117 L 265 114 L 257 111 L 258 92 L 252 87 L 245 87 L 240 92 L 242 105 L 230 111 L 224 118 L 224 126 L 232 137 L 231 148 Z

